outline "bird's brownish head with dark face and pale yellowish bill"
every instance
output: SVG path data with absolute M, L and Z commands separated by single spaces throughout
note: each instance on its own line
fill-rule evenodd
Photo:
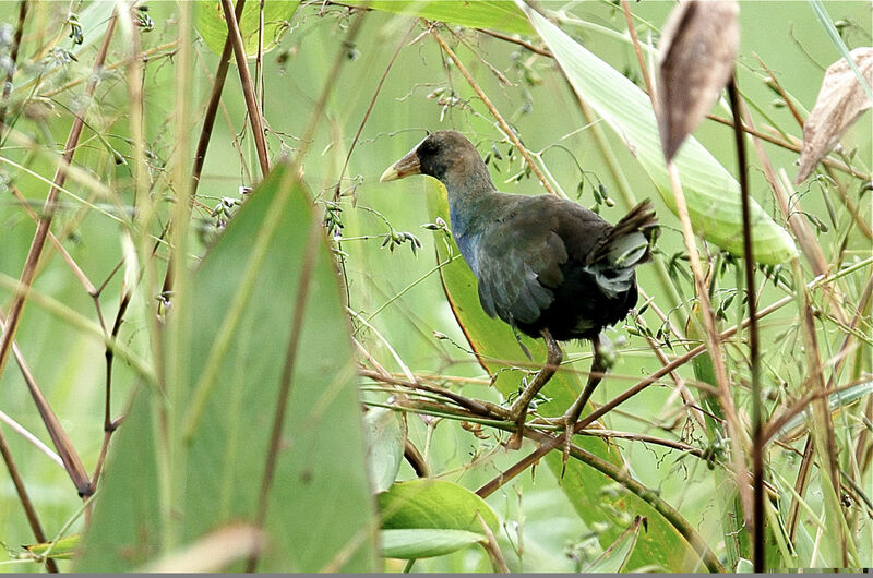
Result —
M 394 181 L 410 174 L 428 174 L 450 190 L 494 189 L 479 152 L 457 131 L 434 132 L 388 167 L 379 180 Z

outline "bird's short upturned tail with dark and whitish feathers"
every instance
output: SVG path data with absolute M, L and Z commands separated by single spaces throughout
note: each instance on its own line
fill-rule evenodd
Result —
M 634 282 L 634 269 L 651 257 L 658 219 L 646 198 L 631 209 L 588 254 L 587 268 L 607 294 L 626 291 Z

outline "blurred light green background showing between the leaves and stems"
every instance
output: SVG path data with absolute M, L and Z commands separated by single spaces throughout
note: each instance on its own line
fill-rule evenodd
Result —
M 636 58 L 631 45 L 607 31 L 623 33 L 625 23 L 621 10 L 607 1 L 541 2 L 551 10 L 563 10 L 561 23 L 564 31 L 574 35 L 588 50 L 609 62 L 617 70 L 642 85 Z M 111 4 L 111 3 L 109 3 Z M 88 5 L 76 5 L 83 14 Z M 632 5 L 641 22 L 650 23 L 654 31 L 662 25 L 673 8 L 672 2 L 637 2 Z M 174 60 L 166 55 L 171 48 L 160 47 L 172 43 L 177 35 L 177 5 L 172 2 L 150 3 L 154 31 L 142 36 L 143 49 L 157 47 L 155 60 L 150 62 L 143 91 L 146 99 L 146 136 L 151 143 L 154 174 L 172 166 L 174 141 L 169 133 L 171 115 L 176 106 Z M 841 28 L 849 48 L 871 44 L 871 3 L 828 1 L 825 4 L 832 20 L 844 23 Z M 0 3 L 0 23 L 14 25 L 17 4 Z M 39 2 L 35 4 L 34 17 L 43 19 L 43 33 L 59 34 L 69 7 L 64 2 Z M 92 16 L 99 20 L 99 16 Z M 738 64 L 739 86 L 745 98 L 754 103 L 758 127 L 777 125 L 793 135 L 800 135 L 790 111 L 779 101 L 778 95 L 764 82 L 766 76 L 760 58 L 778 77 L 785 89 L 801 109 L 812 108 L 818 92 L 823 69 L 839 58 L 834 44 L 824 33 L 811 7 L 805 2 L 746 1 L 741 5 L 742 44 Z M 445 301 L 435 265 L 433 243 L 435 237 L 421 228 L 430 221 L 423 198 L 423 184 L 416 180 L 380 184 L 379 176 L 394 160 L 418 143 L 427 131 L 456 129 L 470 137 L 485 155 L 492 153 L 490 167 L 498 186 L 505 192 L 539 194 L 541 186 L 535 179 L 523 178 L 516 182 L 521 165 L 517 158 L 509 159 L 510 145 L 502 141 L 495 123 L 469 85 L 453 65 L 442 58 L 438 45 L 423 35 L 405 46 L 376 95 L 376 86 L 386 70 L 388 60 L 397 49 L 400 38 L 407 33 L 412 19 L 382 12 L 371 12 L 364 17 L 362 28 L 354 46 L 345 46 L 344 38 L 350 20 L 345 9 L 323 5 L 322 2 L 303 3 L 290 20 L 290 29 L 279 46 L 266 55 L 264 60 L 264 103 L 268 124 L 268 143 L 274 157 L 295 156 L 300 146 L 299 137 L 310 121 L 310 112 L 328 82 L 330 70 L 336 55 L 345 52 L 339 74 L 330 79 L 325 113 L 320 119 L 313 142 L 303 160 L 304 182 L 316 197 L 331 197 L 339 178 L 343 164 L 359 124 L 371 100 L 375 97 L 372 112 L 360 140 L 351 155 L 345 178 L 340 183 L 344 196 L 340 203 L 342 236 L 337 244 L 347 254 L 346 274 L 349 306 L 362 315 L 380 310 L 370 323 L 396 350 L 414 371 L 468 377 L 487 377 L 468 350 L 468 345 Z M 38 35 L 36 26 L 28 35 Z M 423 32 L 417 25 L 409 35 L 416 38 Z M 653 32 L 653 41 L 656 38 Z M 485 34 L 461 27 L 453 33 L 444 32 L 444 38 L 453 46 L 477 82 L 489 95 L 494 106 L 517 129 L 525 145 L 534 152 L 542 150 L 542 158 L 550 172 L 563 190 L 586 206 L 595 205 L 594 188 L 602 183 L 610 196 L 617 201 L 613 207 L 601 207 L 601 215 L 614 221 L 629 208 L 622 204 L 618 184 L 606 168 L 601 154 L 593 141 L 590 128 L 579 112 L 575 97 L 565 81 L 557 73 L 554 62 L 546 57 Z M 38 38 L 25 38 L 37 44 Z M 99 38 L 87 37 L 92 44 L 79 49 L 79 62 L 70 63 L 65 71 L 55 73 L 39 84 L 37 94 L 48 94 L 52 87 L 62 88 L 76 79 L 86 79 Z M 646 41 L 647 38 L 643 37 Z M 69 40 L 59 46 L 69 46 Z M 205 106 L 211 87 L 211 74 L 218 57 L 200 40 L 194 44 L 196 56 L 193 68 L 193 91 L 190 105 L 192 141 L 196 139 L 202 121 L 201 110 Z M 124 58 L 129 46 L 122 36 L 112 45 L 109 62 Z M 33 55 L 25 51 L 25 57 Z M 500 71 L 507 83 L 500 81 L 494 71 Z M 25 71 L 26 72 L 26 71 Z M 212 137 L 206 157 L 198 200 L 212 208 L 223 198 L 239 198 L 240 186 L 256 182 L 258 162 L 249 134 L 240 142 L 240 152 L 234 146 L 239 137 L 244 101 L 231 67 L 223 95 L 223 108 Z M 125 165 L 116 165 L 107 154 L 107 145 L 122 155 L 130 154 L 127 129 L 125 76 L 122 70 L 108 74 L 97 91 L 94 108 L 88 112 L 88 124 L 83 136 L 84 146 L 76 153 L 75 162 L 86 167 L 91 174 L 106 183 L 113 183 L 121 192 L 125 204 L 131 198 L 130 170 Z M 80 105 L 77 98 L 82 85 L 63 89 L 48 97 L 44 108 L 32 105 L 28 112 L 17 119 L 15 131 L 38 141 L 51 141 L 62 147 L 69 130 L 70 115 Z M 24 98 L 27 88 L 15 86 L 15 98 Z M 621 95 L 617 95 L 621 98 Z M 714 112 L 728 117 L 726 107 L 717 106 Z M 870 112 L 849 131 L 842 140 L 847 150 L 857 147 L 856 158 L 869 172 L 871 159 Z M 248 130 L 248 129 L 247 129 Z M 624 178 L 630 182 L 637 198 L 651 197 L 658 209 L 662 234 L 659 248 L 666 255 L 683 251 L 678 219 L 663 206 L 651 183 L 638 164 L 623 145 L 620 137 L 603 124 L 612 150 L 619 158 Z M 99 133 L 100 137 L 96 134 Z M 728 127 L 716 122 L 704 122 L 695 136 L 736 174 L 733 136 Z M 551 146 L 560 141 L 561 146 Z M 498 159 L 494 150 L 503 159 Z M 777 169 L 785 168 L 790 177 L 796 169 L 797 155 L 767 145 Z M 53 171 L 50 162 L 20 147 L 10 139 L 3 144 L 2 156 L 17 164 L 26 164 L 43 179 L 50 179 Z M 753 195 L 778 222 L 782 219 L 764 181 L 757 160 L 752 155 L 750 178 Z M 243 165 L 247 168 L 242 168 Z M 584 169 L 585 174 L 579 170 Z M 48 185 L 36 176 L 28 176 L 9 164 L 0 167 L 4 179 L 12 179 L 22 193 L 38 207 Z M 159 180 L 159 179 L 158 179 Z M 584 183 L 579 189 L 579 183 Z M 108 200 L 100 198 L 93 190 L 81 183 L 70 182 L 71 193 L 92 200 L 107 213 L 115 210 Z M 579 194 L 581 192 L 581 194 Z M 804 210 L 827 222 L 829 230 L 820 232 L 818 239 L 830 261 L 836 255 L 842 233 L 849 220 L 846 210 L 837 205 L 838 221 L 832 224 L 825 206 L 822 189 L 816 184 L 804 184 L 799 196 Z M 164 191 L 158 191 L 166 194 Z M 825 193 L 826 194 L 826 193 Z M 850 194 L 856 195 L 856 191 Z M 856 195 L 857 198 L 857 195 Z M 870 195 L 861 198 L 862 214 L 870 215 Z M 198 224 L 204 231 L 214 226 L 207 208 L 195 210 Z M 417 236 L 422 248 L 417 254 L 405 243 L 388 251 L 380 249 L 380 236 L 388 231 L 386 221 L 400 231 Z M 69 225 L 69 227 L 68 227 Z M 122 256 L 122 236 L 117 220 L 81 202 L 63 195 L 62 208 L 52 228 L 67 249 L 82 266 L 95 285 L 106 279 Z M 17 278 L 24 255 L 34 232 L 34 224 L 7 192 L 0 196 L 0 273 Z M 204 237 L 205 238 L 205 237 Z M 848 240 L 848 255 L 866 256 L 870 242 L 857 232 Z M 49 296 L 82 315 L 95 320 L 91 298 L 70 274 L 67 265 L 56 252 L 44 257 L 44 269 L 35 290 Z M 417 282 L 419 281 L 420 282 Z M 115 275 L 103 293 L 105 314 L 113 317 L 118 306 L 122 274 Z M 656 281 L 651 266 L 638 270 L 641 287 L 654 298 L 665 311 L 670 310 L 670 299 L 663 294 Z M 850 279 L 849 282 L 860 282 Z M 414 287 L 407 288 L 415 284 Z M 689 286 L 685 285 L 687 288 Z M 858 287 L 860 290 L 860 287 Z M 398 293 L 402 293 L 398 296 Z M 687 292 L 684 297 L 690 297 Z M 768 286 L 762 297 L 766 304 L 784 293 Z M 0 290 L 2 303 L 9 302 L 8 287 Z M 137 294 L 137 300 L 143 299 Z M 216 311 L 215 315 L 222 315 Z M 739 317 L 738 310 L 729 312 L 728 324 Z M 793 311 L 778 313 L 762 324 L 763 344 L 766 344 L 766 364 L 778 365 L 779 374 L 786 378 L 802 377 L 804 368 L 781 366 L 782 351 L 777 345 L 781 329 Z M 647 312 L 650 327 L 660 322 Z M 96 320 L 95 320 L 96 321 Z M 674 315 L 671 321 L 681 325 L 684 320 Z M 141 354 L 147 354 L 146 320 L 142 302 L 134 302 L 121 329 L 121 338 Z M 627 334 L 624 327 L 615 327 L 608 335 L 613 340 L 626 339 L 623 354 L 613 368 L 613 377 L 605 381 L 596 399 L 614 397 L 641 376 L 655 371 L 659 364 L 645 342 Z M 371 353 L 390 370 L 398 371 L 382 341 L 366 329 L 359 338 L 368 345 Z M 34 371 L 44 393 L 61 418 L 88 471 L 93 471 L 103 441 L 101 412 L 104 396 L 104 348 L 99 340 L 63 323 L 55 315 L 29 303 L 17 333 L 17 344 Z M 678 350 L 679 351 L 679 350 Z M 588 346 L 570 345 L 567 352 L 579 361 L 573 366 L 586 371 Z M 519 363 L 525 362 L 518 350 Z M 44 439 L 45 429 L 27 394 L 20 372 L 11 361 L 0 378 L 0 410 L 16 420 L 28 431 Z M 681 372 L 693 377 L 690 368 Z M 765 388 L 777 388 L 778 383 L 768 378 Z M 123 363 L 115 365 L 116 394 L 113 414 L 121 413 L 128 402 L 133 385 L 133 374 Z M 548 388 L 546 390 L 548 393 Z M 470 397 L 498 401 L 499 396 L 483 385 L 467 385 L 463 393 Z M 742 394 L 740 394 L 742 397 Z M 663 434 L 660 426 L 668 425 L 677 434 L 682 433 L 678 400 L 672 389 L 651 387 L 612 412 L 607 423 L 611 429 L 654 432 Z M 675 422 L 675 423 L 671 423 Z M 434 472 L 475 490 L 505 469 L 521 456 L 504 451 L 490 451 L 494 441 L 482 442 L 462 430 L 456 422 L 440 423 L 429 428 L 422 420 L 410 416 L 410 437 L 431 462 Z M 13 453 L 19 457 L 22 474 L 39 509 L 49 535 L 81 508 L 67 474 L 44 454 L 36 451 L 9 428 L 3 426 Z M 613 442 L 621 447 L 633 473 L 648 486 L 678 508 L 701 531 L 710 544 L 717 544 L 721 532 L 717 513 L 711 510 L 713 482 L 705 463 L 685 458 L 677 459 L 659 447 L 641 443 Z M 408 466 L 402 469 L 402 478 L 411 478 Z M 547 468 L 537 468 L 534 475 L 519 477 L 488 502 L 510 525 L 507 533 L 514 540 L 517 529 L 524 532 L 524 568 L 527 570 L 576 569 L 575 558 L 591 559 L 599 550 L 593 532 L 573 514 L 572 508 L 558 486 L 560 482 Z M 517 523 L 517 528 L 514 526 Z M 80 518 L 73 530 L 82 528 Z M 0 542 L 15 552 L 20 544 L 31 543 L 32 534 L 19 504 L 12 482 L 0 475 Z M 2 564 L 3 570 L 26 571 L 39 569 L 31 564 Z M 399 569 L 399 566 L 393 567 Z M 489 569 L 487 556 L 477 549 L 440 558 L 421 561 L 416 570 L 476 571 Z

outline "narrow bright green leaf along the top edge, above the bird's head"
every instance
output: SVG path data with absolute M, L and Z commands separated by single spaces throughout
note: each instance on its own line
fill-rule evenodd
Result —
M 493 28 L 519 34 L 533 32 L 524 13 L 505 0 L 349 0 L 345 3 L 468 28 Z

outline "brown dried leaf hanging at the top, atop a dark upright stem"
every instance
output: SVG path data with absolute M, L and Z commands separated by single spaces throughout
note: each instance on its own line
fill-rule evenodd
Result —
M 660 40 L 658 128 L 671 160 L 718 99 L 740 48 L 739 4 L 689 0 L 673 10 Z

